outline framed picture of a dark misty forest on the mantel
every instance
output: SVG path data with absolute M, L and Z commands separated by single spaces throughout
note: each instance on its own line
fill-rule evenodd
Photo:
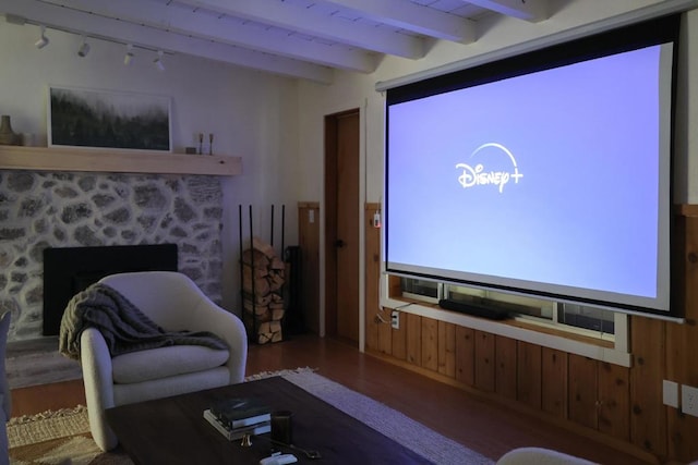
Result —
M 171 151 L 170 98 L 49 87 L 49 147 Z

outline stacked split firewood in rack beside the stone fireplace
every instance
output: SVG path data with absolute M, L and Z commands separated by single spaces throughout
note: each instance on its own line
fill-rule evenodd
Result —
M 258 344 L 284 339 L 284 282 L 286 270 L 274 247 L 258 237 L 242 253 L 243 321 L 251 339 Z

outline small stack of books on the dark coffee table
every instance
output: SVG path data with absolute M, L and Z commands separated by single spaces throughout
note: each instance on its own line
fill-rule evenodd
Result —
M 272 430 L 269 407 L 254 397 L 217 401 L 204 411 L 204 418 L 229 441 Z

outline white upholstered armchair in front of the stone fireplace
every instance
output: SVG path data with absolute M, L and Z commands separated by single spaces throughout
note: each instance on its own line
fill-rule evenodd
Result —
M 172 271 L 112 274 L 99 281 L 134 304 L 166 331 L 209 331 L 229 351 L 200 345 L 172 345 L 111 357 L 101 333 L 81 335 L 81 364 L 89 428 L 97 445 L 108 451 L 118 439 L 105 409 L 186 392 L 241 382 L 248 339 L 240 319 L 214 304 L 186 276 Z

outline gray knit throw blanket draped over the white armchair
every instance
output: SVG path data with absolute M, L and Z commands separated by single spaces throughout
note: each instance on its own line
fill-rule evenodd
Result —
M 169 345 L 228 348 L 225 341 L 212 332 L 165 331 L 127 297 L 101 283 L 75 294 L 68 303 L 59 334 L 60 353 L 79 360 L 80 336 L 91 327 L 97 328 L 105 338 L 112 357 Z

